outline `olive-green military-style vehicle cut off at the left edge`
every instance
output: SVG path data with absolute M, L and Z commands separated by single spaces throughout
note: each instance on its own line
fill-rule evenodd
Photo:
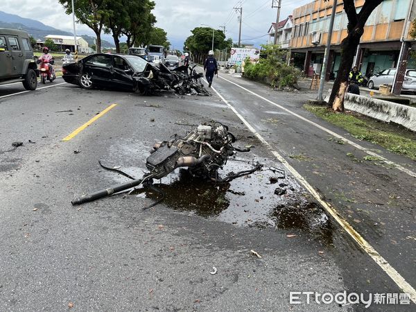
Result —
M 26 90 L 37 87 L 37 69 L 28 33 L 0 28 L 0 85 L 21 82 Z

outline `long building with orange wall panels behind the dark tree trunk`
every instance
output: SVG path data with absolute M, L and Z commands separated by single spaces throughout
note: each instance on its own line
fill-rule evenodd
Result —
M 356 0 L 357 12 L 365 0 Z M 364 27 L 356 51 L 356 64 L 363 75 L 371 76 L 383 69 L 397 67 L 402 42 L 414 42 L 408 36 L 410 21 L 415 17 L 414 0 L 385 0 L 372 12 Z M 293 10 L 291 39 L 292 59 L 309 76 L 320 73 L 327 44 L 333 1 L 315 0 Z M 331 37 L 327 80 L 337 76 L 340 44 L 347 37 L 347 15 L 343 1 L 338 1 Z

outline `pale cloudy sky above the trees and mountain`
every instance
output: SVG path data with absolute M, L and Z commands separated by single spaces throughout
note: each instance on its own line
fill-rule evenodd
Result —
M 76 3 L 76 0 L 74 0 Z M 276 20 L 276 8 L 271 8 L 272 0 L 154 0 L 154 14 L 158 27 L 164 28 L 168 39 L 175 49 L 182 49 L 184 40 L 191 35 L 191 30 L 200 24 L 207 24 L 216 29 L 225 25 L 226 36 L 237 42 L 239 39 L 238 14 L 234 7 L 243 8 L 241 41 L 263 44 L 272 21 Z M 280 19 L 291 15 L 294 8 L 312 0 L 281 0 Z M 71 16 L 66 15 L 58 0 L 0 0 L 0 10 L 21 17 L 37 19 L 44 24 L 72 31 Z M 168 4 L 166 4 L 168 3 Z M 45 15 L 45 12 L 47 15 Z M 84 25 L 77 25 L 77 33 L 92 35 Z M 111 37 L 104 36 L 105 40 Z

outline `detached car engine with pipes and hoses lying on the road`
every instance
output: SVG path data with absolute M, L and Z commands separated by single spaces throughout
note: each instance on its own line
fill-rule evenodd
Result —
M 234 155 L 236 151 L 250 151 L 250 148 L 233 146 L 234 141 L 235 137 L 228 132 L 226 125 L 221 123 L 198 125 L 184 137 L 174 135 L 170 141 L 157 142 L 150 150 L 150 155 L 146 159 L 146 168 L 148 168 L 149 172 L 141 179 L 135 180 L 122 171 L 103 166 L 100 162 L 104 168 L 122 173 L 132 180 L 76 198 L 71 203 L 72 205 L 80 205 L 84 202 L 90 202 L 126 189 L 139 187 L 140 185 L 152 187 L 153 179 L 166 177 L 175 168 L 180 167 L 188 167 L 192 175 L 214 182 L 229 182 L 236 177 L 248 175 L 259 170 L 262 166 L 261 164 L 257 164 L 247 171 L 228 173 L 223 178 L 218 176 L 218 169 L 227 163 L 228 157 Z

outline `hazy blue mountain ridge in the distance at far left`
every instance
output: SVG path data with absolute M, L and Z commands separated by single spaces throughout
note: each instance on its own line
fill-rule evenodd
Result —
M 8 14 L 6 12 L 0 11 L 0 28 L 15 28 L 26 31 L 29 35 L 35 39 L 44 40 L 44 37 L 47 35 L 63 35 L 63 36 L 72 36 L 73 33 L 68 31 L 60 31 L 59 29 L 47 26 L 40 21 L 35 19 L 26 19 L 24 17 L 19 17 L 19 15 Z M 80 35 L 83 37 L 89 44 L 92 46 L 94 44 L 94 37 L 89 35 Z M 101 40 L 101 46 L 113 48 L 114 44 Z

